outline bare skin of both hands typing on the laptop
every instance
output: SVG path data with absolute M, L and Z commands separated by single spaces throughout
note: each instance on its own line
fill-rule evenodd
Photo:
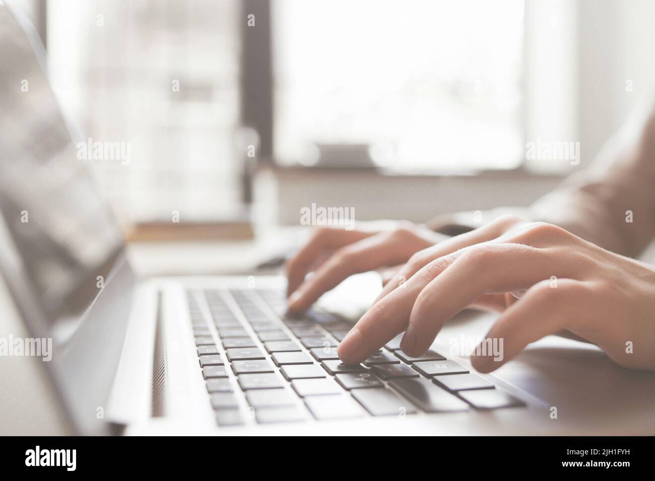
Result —
M 403 351 L 420 356 L 448 319 L 474 307 L 500 312 L 486 337 L 504 341 L 501 361 L 472 355 L 479 372 L 562 330 L 597 344 L 618 365 L 655 370 L 655 268 L 553 224 L 512 216 L 452 238 L 412 224 L 316 230 L 288 263 L 289 312 L 303 312 L 352 274 L 396 264 L 339 344 L 344 363 L 364 361 L 401 332 Z

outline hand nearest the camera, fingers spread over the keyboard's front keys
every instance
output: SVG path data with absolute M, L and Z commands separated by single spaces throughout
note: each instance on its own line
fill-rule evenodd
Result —
M 517 299 L 515 291 L 525 293 Z M 472 355 L 480 372 L 566 329 L 621 366 L 655 370 L 654 268 L 512 217 L 413 255 L 341 342 L 339 357 L 360 363 L 403 331 L 403 351 L 420 356 L 445 321 L 476 302 L 502 311 L 487 338 L 504 340 L 500 361 Z

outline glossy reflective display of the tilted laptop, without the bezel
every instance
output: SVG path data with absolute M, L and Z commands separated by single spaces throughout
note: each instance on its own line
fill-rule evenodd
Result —
M 0 209 L 43 310 L 77 317 L 102 289 L 121 232 L 5 8 L 0 46 Z

